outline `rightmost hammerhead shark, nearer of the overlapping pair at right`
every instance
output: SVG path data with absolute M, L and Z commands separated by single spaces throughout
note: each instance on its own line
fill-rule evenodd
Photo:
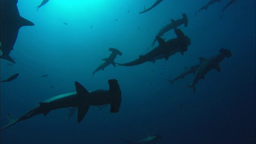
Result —
M 188 85 L 189 87 L 194 89 L 194 92 L 196 92 L 195 84 L 197 84 L 198 80 L 204 79 L 204 75 L 210 72 L 210 70 L 212 69 L 220 72 L 219 63 L 222 62 L 225 57 L 229 58 L 230 56 L 232 56 L 230 50 L 228 49 L 221 48 L 219 52 L 220 54 L 216 54 L 212 58 L 199 58 L 200 66 L 196 70 L 192 83 Z

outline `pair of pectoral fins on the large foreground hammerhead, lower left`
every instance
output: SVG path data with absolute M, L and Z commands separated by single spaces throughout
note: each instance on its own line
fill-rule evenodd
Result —
M 80 100 L 85 100 L 86 97 L 88 97 L 89 92 L 79 82 L 75 81 L 75 86 L 76 86 L 76 96 L 78 96 Z M 78 118 L 77 118 L 78 123 L 82 121 L 82 119 L 88 112 L 89 107 L 90 105 L 86 105 L 83 103 L 80 104 L 80 106 L 78 106 Z

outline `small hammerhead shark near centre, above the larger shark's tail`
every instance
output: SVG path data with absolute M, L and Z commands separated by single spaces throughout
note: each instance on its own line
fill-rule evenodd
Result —
M 108 56 L 108 58 L 102 59 L 104 60 L 104 62 L 100 64 L 100 66 L 98 66 L 98 68 L 96 68 L 96 70 L 92 72 L 93 75 L 99 70 L 104 70 L 104 68 L 106 68 L 110 64 L 113 64 L 113 66 L 116 67 L 116 63 L 114 62 L 114 59 L 116 58 L 117 55 L 122 56 L 122 52 L 120 52 L 116 48 L 109 48 L 108 50 L 111 51 L 112 53 Z

